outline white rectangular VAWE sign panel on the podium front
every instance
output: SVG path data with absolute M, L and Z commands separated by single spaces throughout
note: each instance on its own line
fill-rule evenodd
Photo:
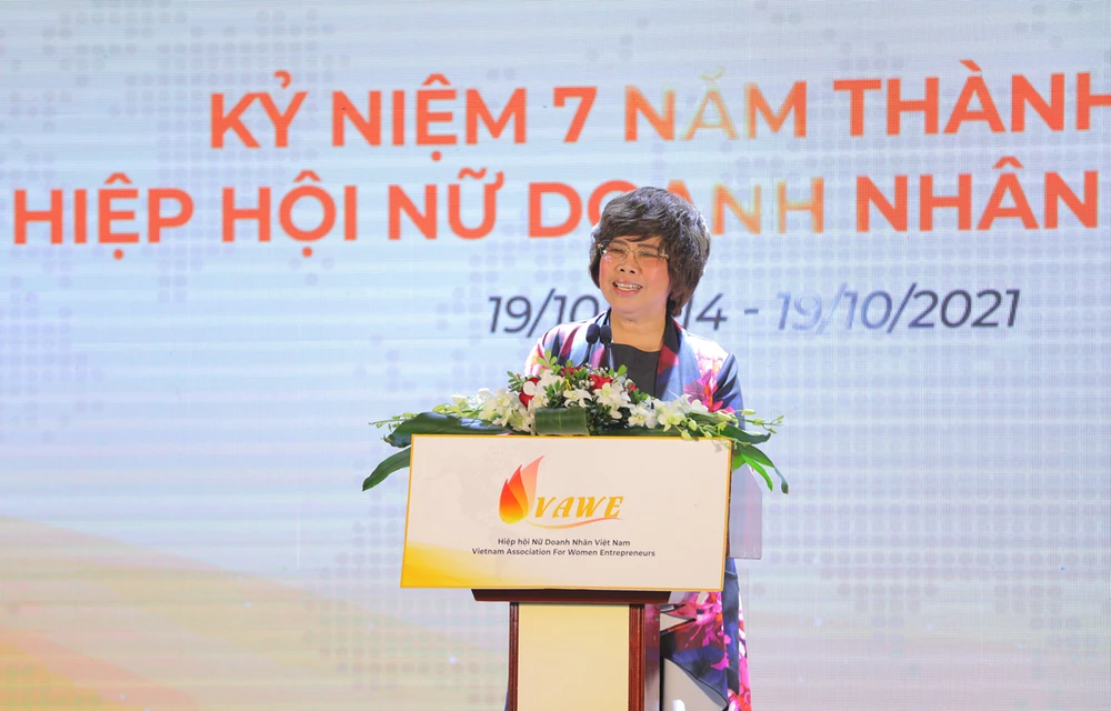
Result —
M 723 442 L 413 438 L 401 585 L 720 590 Z

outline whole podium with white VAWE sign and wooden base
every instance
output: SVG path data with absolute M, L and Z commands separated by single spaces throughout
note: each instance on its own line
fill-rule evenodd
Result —
M 509 603 L 510 710 L 657 711 L 659 605 L 759 555 L 738 474 L 721 441 L 414 435 L 401 585 Z

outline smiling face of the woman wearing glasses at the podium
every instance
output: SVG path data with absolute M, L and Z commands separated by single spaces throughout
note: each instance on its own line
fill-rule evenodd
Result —
M 598 263 L 598 283 L 610 308 L 630 319 L 660 318 L 668 311 L 671 277 L 668 260 L 660 254 L 660 238 L 634 242 L 617 237 Z

